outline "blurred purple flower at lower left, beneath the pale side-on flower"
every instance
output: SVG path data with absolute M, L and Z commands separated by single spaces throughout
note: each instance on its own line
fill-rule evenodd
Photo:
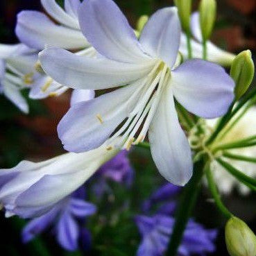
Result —
M 96 212 L 92 203 L 85 201 L 85 189 L 80 187 L 70 196 L 63 198 L 46 214 L 28 222 L 22 230 L 22 241 L 27 243 L 44 230 L 53 229 L 53 234 L 62 248 L 77 250 L 79 241 L 89 247 L 91 242 L 85 218 Z

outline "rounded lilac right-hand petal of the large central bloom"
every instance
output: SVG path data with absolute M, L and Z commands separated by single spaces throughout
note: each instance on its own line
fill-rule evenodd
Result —
M 187 110 L 203 118 L 221 117 L 234 99 L 234 81 L 221 66 L 188 60 L 172 72 L 173 94 Z

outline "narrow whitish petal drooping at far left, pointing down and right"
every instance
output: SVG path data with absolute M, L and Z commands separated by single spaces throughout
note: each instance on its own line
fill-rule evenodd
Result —
M 15 104 L 19 110 L 22 110 L 22 112 L 28 114 L 28 103 L 22 96 L 19 88 L 5 80 L 3 81 L 3 94 L 6 96 L 6 98 L 12 101 L 12 103 Z

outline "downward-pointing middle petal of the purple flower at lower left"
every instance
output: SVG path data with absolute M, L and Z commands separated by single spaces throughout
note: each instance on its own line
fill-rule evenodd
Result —
M 66 250 L 78 248 L 79 228 L 72 216 L 65 212 L 58 221 L 58 242 Z

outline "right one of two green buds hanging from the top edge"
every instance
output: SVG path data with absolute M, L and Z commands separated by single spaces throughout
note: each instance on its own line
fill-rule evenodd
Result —
M 216 20 L 216 0 L 201 0 L 199 11 L 203 40 L 207 41 L 212 35 Z

